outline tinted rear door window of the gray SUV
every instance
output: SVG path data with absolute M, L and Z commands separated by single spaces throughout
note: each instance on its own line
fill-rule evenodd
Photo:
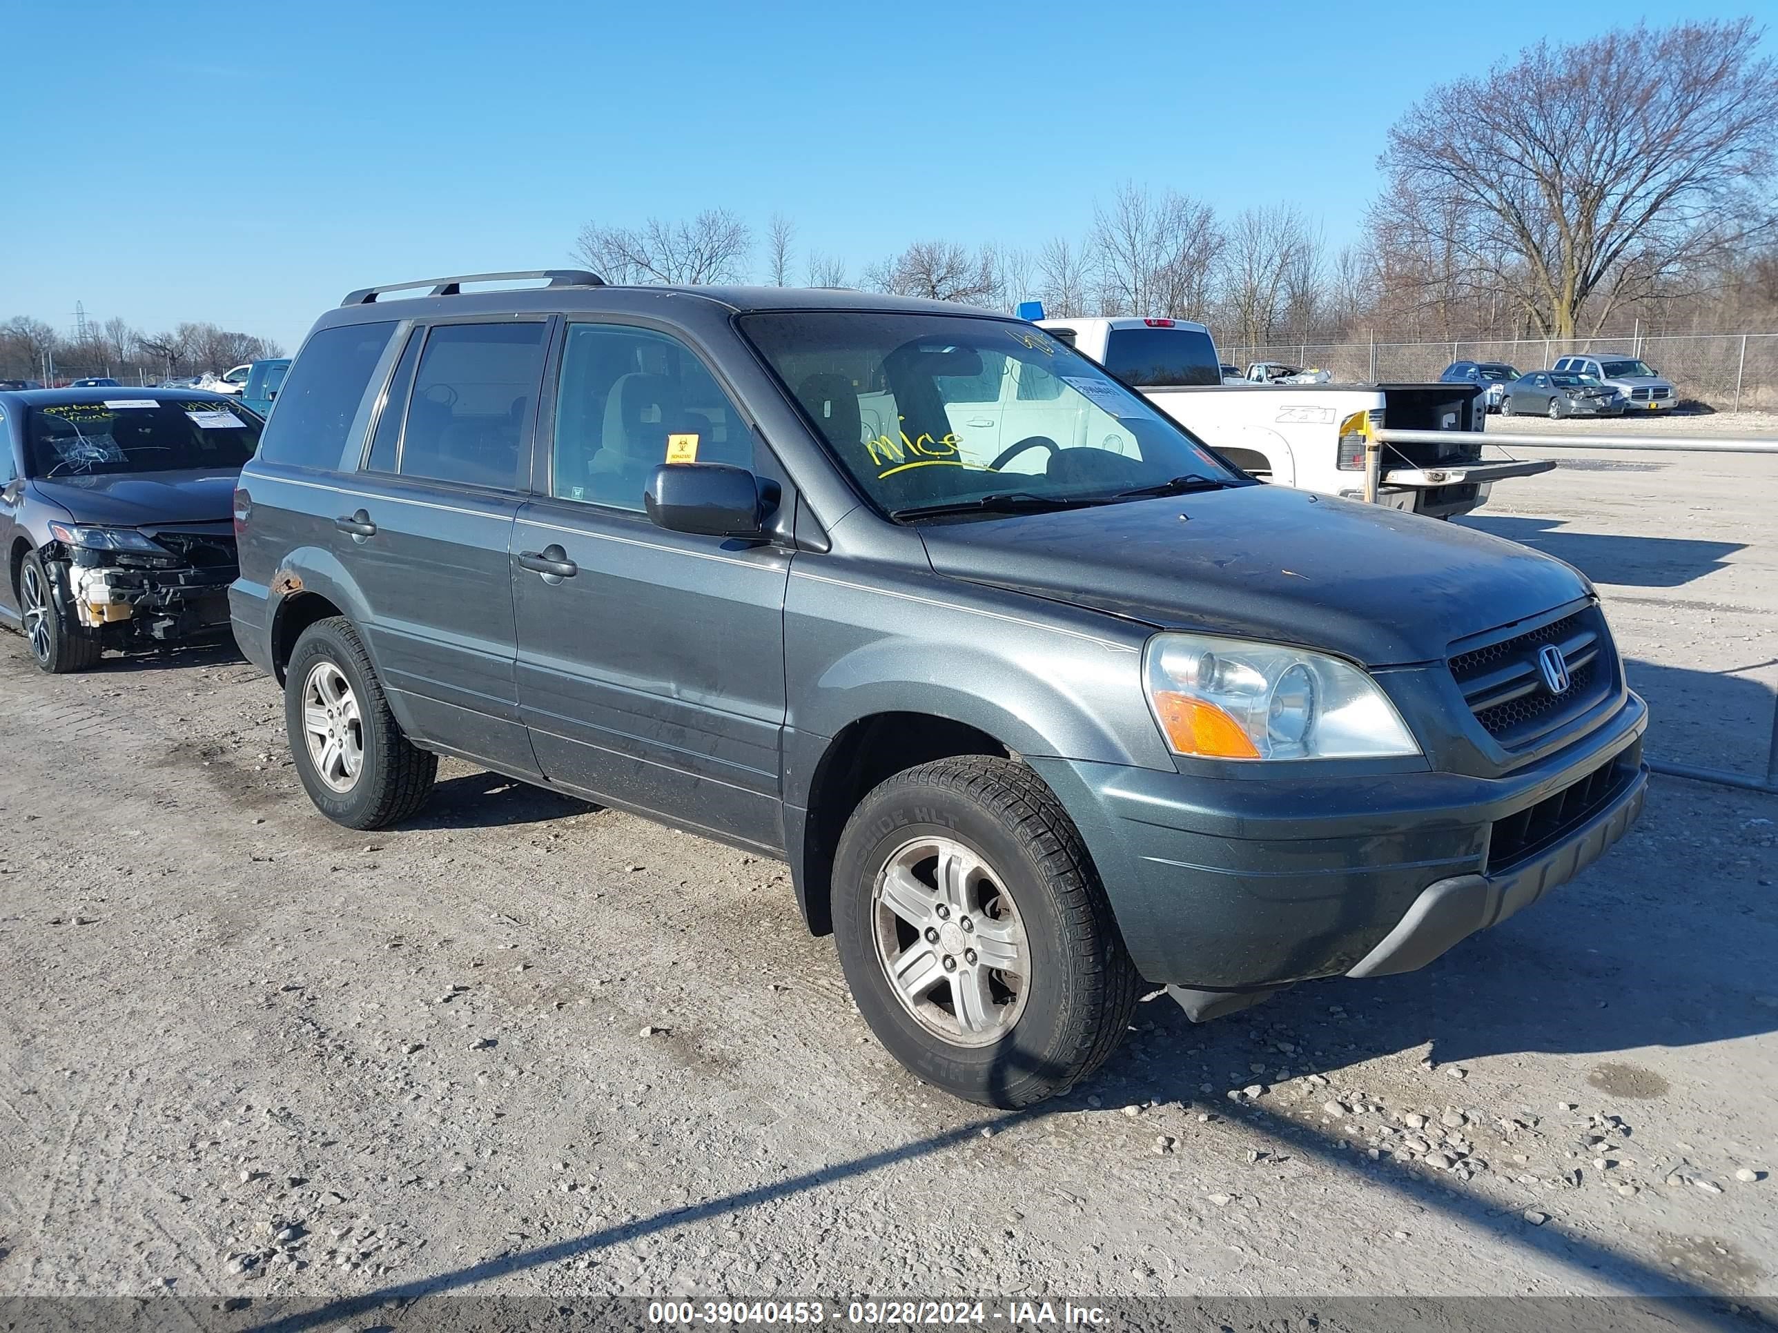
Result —
M 535 416 L 549 325 L 443 323 L 414 371 L 398 471 L 434 482 L 512 491 L 530 478 L 526 428 Z

